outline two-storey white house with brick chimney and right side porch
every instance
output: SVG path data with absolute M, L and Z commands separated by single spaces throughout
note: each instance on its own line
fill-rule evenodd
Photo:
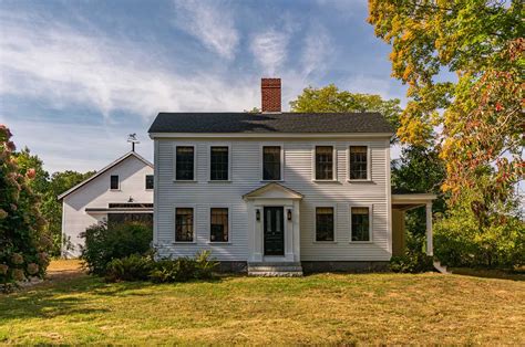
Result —
M 433 196 L 393 196 L 390 139 L 378 113 L 281 112 L 262 78 L 261 113 L 161 113 L 154 140 L 154 246 L 161 257 L 212 251 L 229 270 L 384 267 L 402 252 L 403 214 Z

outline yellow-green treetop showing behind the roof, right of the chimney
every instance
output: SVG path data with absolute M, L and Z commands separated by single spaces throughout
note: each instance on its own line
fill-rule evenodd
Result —
M 297 99 L 290 102 L 291 112 L 379 112 L 397 129 L 402 112 L 399 98 L 383 101 L 380 95 L 339 91 L 334 84 L 326 87 L 307 87 Z

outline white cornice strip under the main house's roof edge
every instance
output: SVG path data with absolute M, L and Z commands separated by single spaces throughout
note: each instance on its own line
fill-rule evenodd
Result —
M 155 138 L 388 138 L 393 133 L 150 133 Z

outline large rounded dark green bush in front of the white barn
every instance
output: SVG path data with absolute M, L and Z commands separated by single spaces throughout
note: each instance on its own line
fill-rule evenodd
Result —
M 151 225 L 137 222 L 111 227 L 100 223 L 87 228 L 81 238 L 85 241 L 80 257 L 85 261 L 90 273 L 104 275 L 112 260 L 150 252 L 153 230 Z

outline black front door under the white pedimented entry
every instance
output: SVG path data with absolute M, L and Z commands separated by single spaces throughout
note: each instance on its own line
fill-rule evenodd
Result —
M 265 208 L 265 255 L 285 255 L 285 209 Z

